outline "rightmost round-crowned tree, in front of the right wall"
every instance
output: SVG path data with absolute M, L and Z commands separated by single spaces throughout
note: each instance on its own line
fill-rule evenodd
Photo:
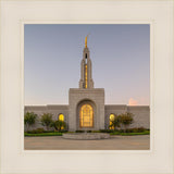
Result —
M 124 126 L 124 132 L 126 132 L 127 127 L 134 122 L 134 114 L 126 112 L 121 114 L 121 124 Z

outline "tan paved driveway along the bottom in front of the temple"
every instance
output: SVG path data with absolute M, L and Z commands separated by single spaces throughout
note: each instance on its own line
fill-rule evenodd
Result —
M 25 137 L 25 150 L 149 150 L 150 136 L 111 136 L 100 140 L 72 140 L 61 136 Z

